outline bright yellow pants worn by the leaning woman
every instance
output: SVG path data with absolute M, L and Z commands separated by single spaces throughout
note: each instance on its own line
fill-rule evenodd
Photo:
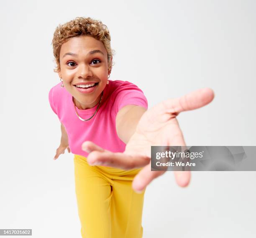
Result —
M 133 191 L 141 169 L 90 166 L 74 155 L 75 189 L 82 238 L 141 238 L 144 193 Z

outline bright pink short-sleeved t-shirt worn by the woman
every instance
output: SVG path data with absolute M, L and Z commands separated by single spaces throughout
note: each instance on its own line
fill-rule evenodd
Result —
M 123 152 L 125 143 L 120 140 L 115 128 L 115 118 L 118 111 L 125 105 L 138 105 L 148 108 L 148 102 L 142 90 L 128 81 L 109 80 L 103 90 L 102 101 L 96 115 L 88 120 L 80 120 L 74 110 L 72 95 L 65 89 L 55 85 L 49 92 L 49 102 L 52 110 L 62 125 L 66 128 L 69 147 L 73 154 L 87 157 L 82 151 L 84 141 L 92 141 L 98 146 L 113 152 Z M 98 105 L 90 109 L 77 109 L 83 119 L 90 118 Z

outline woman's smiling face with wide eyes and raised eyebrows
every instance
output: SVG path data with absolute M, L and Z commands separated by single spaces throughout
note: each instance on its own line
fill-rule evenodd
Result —
M 76 106 L 88 109 L 97 105 L 110 74 L 103 43 L 92 36 L 72 37 L 61 46 L 59 59 L 59 77 L 74 97 Z M 95 85 L 88 88 L 84 86 L 91 83 Z

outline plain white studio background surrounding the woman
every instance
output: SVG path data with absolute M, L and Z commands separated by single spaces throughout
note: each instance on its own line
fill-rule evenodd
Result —
M 178 116 L 187 145 L 256 146 L 255 1 L 10 0 L 0 9 L 0 229 L 80 237 L 73 155 L 53 160 L 60 123 L 48 102 L 59 82 L 54 30 L 77 16 L 108 26 L 110 79 L 138 85 L 149 107 L 214 90 L 212 103 Z M 256 172 L 193 172 L 180 188 L 166 172 L 146 190 L 143 237 L 255 237 L 255 182 Z

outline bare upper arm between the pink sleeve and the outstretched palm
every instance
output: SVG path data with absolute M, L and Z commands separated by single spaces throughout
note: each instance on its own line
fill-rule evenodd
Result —
M 115 128 L 118 137 L 125 144 L 134 134 L 138 122 L 145 112 L 146 108 L 137 105 L 127 105 L 118 112 L 115 118 Z

